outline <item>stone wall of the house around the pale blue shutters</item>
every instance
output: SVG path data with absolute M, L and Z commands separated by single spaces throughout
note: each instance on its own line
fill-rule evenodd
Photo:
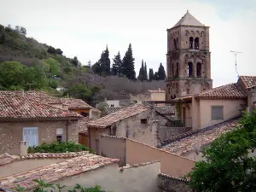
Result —
M 20 141 L 24 127 L 38 127 L 38 144 L 56 140 L 56 130 L 63 129 L 63 141 L 66 141 L 66 121 L 30 121 L 30 122 L 0 122 L 0 154 L 20 154 Z M 79 142 L 79 127 L 77 121 L 68 125 L 69 141 Z

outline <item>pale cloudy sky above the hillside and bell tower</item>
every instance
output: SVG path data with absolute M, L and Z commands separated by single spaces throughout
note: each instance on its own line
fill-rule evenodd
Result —
M 138 74 L 142 60 L 148 68 L 166 68 L 167 28 L 189 10 L 210 26 L 213 87 L 255 75 L 255 0 L 0 0 L 0 24 L 25 26 L 27 37 L 95 63 L 108 49 L 110 58 L 125 55 L 131 43 Z

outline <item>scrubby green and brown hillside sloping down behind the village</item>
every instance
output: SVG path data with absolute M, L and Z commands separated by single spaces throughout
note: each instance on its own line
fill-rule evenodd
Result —
M 94 105 L 107 99 L 127 98 L 148 89 L 164 89 L 160 81 L 137 81 L 124 76 L 100 76 L 83 66 L 77 57 L 67 58 L 55 49 L 26 38 L 26 29 L 0 25 L 0 89 L 44 90 L 55 96 L 82 98 Z M 56 87 L 67 88 L 61 94 Z

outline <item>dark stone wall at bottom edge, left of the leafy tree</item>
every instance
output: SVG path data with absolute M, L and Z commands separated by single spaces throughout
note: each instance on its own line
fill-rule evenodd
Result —
M 158 175 L 157 186 L 161 192 L 192 192 L 186 180 L 162 173 Z

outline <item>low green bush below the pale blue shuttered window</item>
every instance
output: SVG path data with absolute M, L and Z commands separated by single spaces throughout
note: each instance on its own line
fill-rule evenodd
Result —
M 34 153 L 66 153 L 66 152 L 79 152 L 79 151 L 89 151 L 89 148 L 84 147 L 84 145 L 76 144 L 73 142 L 53 142 L 53 143 L 43 143 L 39 146 L 29 147 L 27 152 L 29 154 Z

